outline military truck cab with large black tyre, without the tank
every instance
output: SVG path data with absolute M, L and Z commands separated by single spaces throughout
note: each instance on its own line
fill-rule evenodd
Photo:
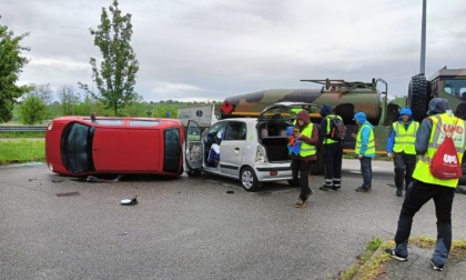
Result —
M 413 111 L 413 118 L 422 121 L 426 117 L 428 102 L 433 98 L 448 100 L 453 111 L 466 101 L 466 69 L 442 68 L 428 80 L 424 74 L 411 79 L 406 104 Z

